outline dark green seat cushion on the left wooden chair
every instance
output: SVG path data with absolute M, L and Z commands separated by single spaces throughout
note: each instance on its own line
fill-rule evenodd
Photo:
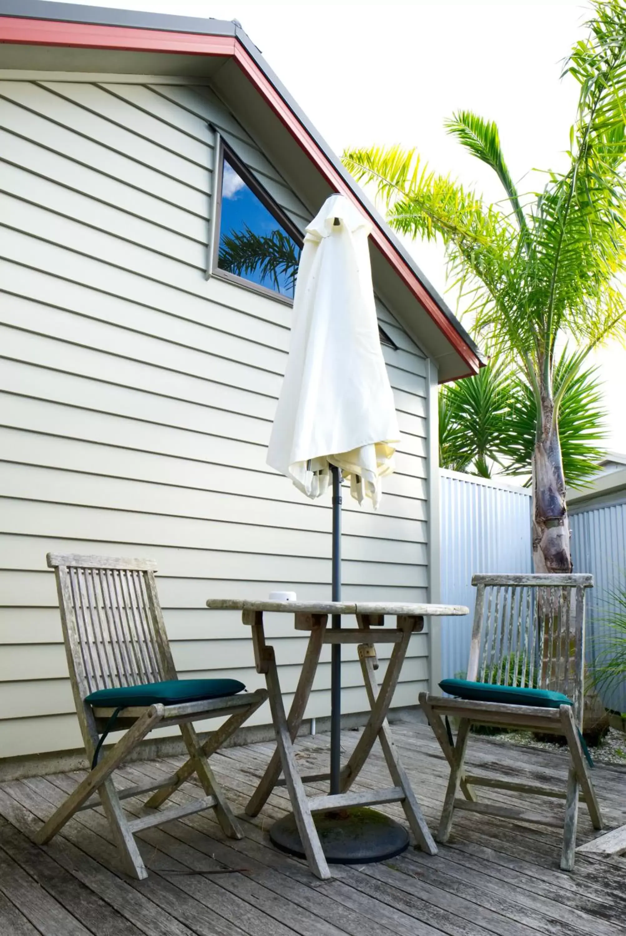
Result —
M 98 689 L 85 697 L 85 702 L 103 708 L 119 709 L 126 706 L 176 705 L 179 702 L 199 702 L 236 695 L 245 686 L 239 680 L 166 680 L 146 682 L 139 686 L 119 686 L 116 689 Z

